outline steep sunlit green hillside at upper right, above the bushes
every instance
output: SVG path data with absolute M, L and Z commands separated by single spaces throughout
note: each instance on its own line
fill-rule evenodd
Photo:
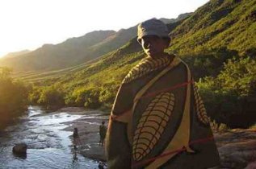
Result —
M 256 1 L 212 0 L 171 32 L 171 51 L 181 55 L 216 48 L 256 52 Z

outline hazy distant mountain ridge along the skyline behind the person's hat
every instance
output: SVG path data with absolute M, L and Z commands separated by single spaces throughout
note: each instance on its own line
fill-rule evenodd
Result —
M 162 19 L 174 23 L 191 13 L 180 14 L 177 19 Z M 35 51 L 18 58 L 0 59 L 0 66 L 15 71 L 49 71 L 73 67 L 112 52 L 136 37 L 136 26 L 120 31 L 92 31 L 86 35 L 66 39 L 63 43 L 44 44 Z

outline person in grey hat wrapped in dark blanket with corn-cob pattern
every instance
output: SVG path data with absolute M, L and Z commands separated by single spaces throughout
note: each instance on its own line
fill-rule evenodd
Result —
M 170 44 L 165 23 L 138 25 L 146 54 L 125 76 L 107 130 L 107 165 L 125 168 L 216 168 L 220 158 L 191 71 Z

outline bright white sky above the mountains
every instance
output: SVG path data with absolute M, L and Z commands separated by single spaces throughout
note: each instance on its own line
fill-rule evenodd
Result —
M 0 57 L 35 50 L 90 31 L 127 29 L 152 18 L 175 19 L 208 0 L 0 0 Z

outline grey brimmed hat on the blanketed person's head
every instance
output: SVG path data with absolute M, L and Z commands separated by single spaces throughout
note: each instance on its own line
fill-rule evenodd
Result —
M 141 43 L 141 38 L 145 35 L 157 35 L 162 38 L 170 38 L 168 35 L 166 24 L 159 19 L 149 19 L 138 25 L 138 42 Z

